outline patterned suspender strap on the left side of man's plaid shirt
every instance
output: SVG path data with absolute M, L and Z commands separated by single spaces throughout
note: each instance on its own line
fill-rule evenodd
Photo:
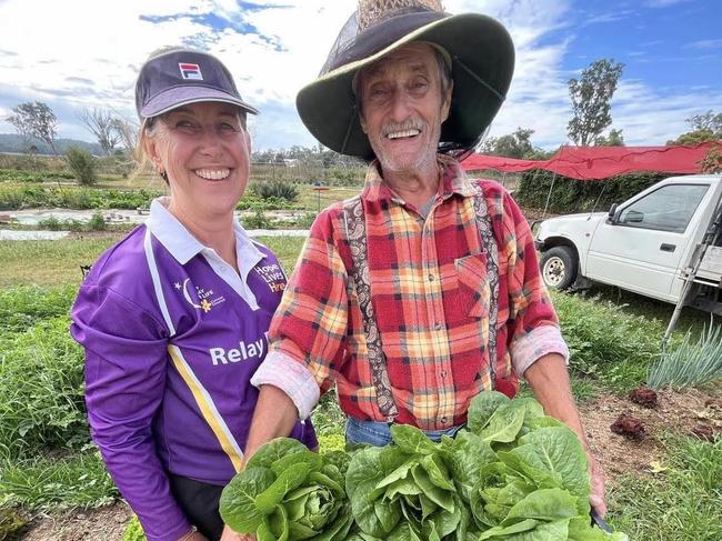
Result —
M 369 260 L 367 244 L 367 228 L 363 216 L 363 203 L 361 197 L 348 199 L 343 202 L 343 218 L 345 221 L 345 237 L 349 242 L 353 267 L 350 278 L 353 280 L 359 307 L 363 315 L 363 330 L 367 338 L 367 350 L 373 377 L 373 385 L 377 390 L 377 403 L 379 410 L 392 422 L 399 414 L 399 409 L 393 401 L 391 382 L 387 369 L 387 358 L 381 345 L 381 334 L 377 325 L 377 319 L 371 303 L 371 282 L 369 278 Z

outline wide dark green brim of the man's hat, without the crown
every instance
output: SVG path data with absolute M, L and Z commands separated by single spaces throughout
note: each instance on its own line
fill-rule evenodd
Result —
M 464 13 L 424 24 L 374 54 L 341 66 L 302 88 L 297 109 L 319 142 L 342 154 L 373 158 L 359 122 L 353 77 L 361 68 L 412 41 L 438 44 L 452 59 L 454 88 L 441 141 L 471 146 L 479 139 L 509 91 L 514 46 L 500 22 L 480 13 Z

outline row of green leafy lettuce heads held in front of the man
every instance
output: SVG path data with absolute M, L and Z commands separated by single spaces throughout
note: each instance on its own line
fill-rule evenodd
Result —
M 259 541 L 622 541 L 590 523 L 586 455 L 531 398 L 489 391 L 468 429 L 432 442 L 392 425 L 393 445 L 315 454 L 261 448 L 223 490 L 221 515 Z

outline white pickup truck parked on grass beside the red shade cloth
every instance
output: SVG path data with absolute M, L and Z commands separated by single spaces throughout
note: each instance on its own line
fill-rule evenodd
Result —
M 609 213 L 570 214 L 535 228 L 544 283 L 618 285 L 722 314 L 722 177 L 672 177 Z

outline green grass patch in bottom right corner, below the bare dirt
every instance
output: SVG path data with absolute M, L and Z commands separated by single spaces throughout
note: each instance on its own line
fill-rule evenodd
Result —
M 634 541 L 722 539 L 722 438 L 663 440 L 661 473 L 626 475 L 610 490 L 610 519 Z

